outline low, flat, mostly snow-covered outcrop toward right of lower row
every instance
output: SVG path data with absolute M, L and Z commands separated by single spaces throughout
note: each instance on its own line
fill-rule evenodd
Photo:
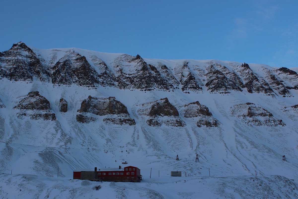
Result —
M 244 123 L 254 126 L 285 126 L 286 124 L 273 116 L 268 110 L 257 107 L 254 103 L 236 104 L 231 107 L 231 115 Z

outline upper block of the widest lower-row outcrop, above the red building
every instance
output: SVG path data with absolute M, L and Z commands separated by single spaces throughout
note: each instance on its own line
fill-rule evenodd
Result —
M 125 114 L 129 116 L 127 108 L 115 97 L 95 98 L 88 96 L 83 100 L 81 108 L 77 112 L 90 112 L 95 115 L 119 115 Z

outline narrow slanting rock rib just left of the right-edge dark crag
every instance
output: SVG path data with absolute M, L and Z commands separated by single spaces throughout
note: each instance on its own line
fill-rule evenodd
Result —
M 274 75 L 268 68 L 263 67 L 262 69 L 265 72 L 269 85 L 276 90 L 278 94 L 282 95 L 283 97 L 292 96 L 290 91 L 283 84 L 283 80 Z

